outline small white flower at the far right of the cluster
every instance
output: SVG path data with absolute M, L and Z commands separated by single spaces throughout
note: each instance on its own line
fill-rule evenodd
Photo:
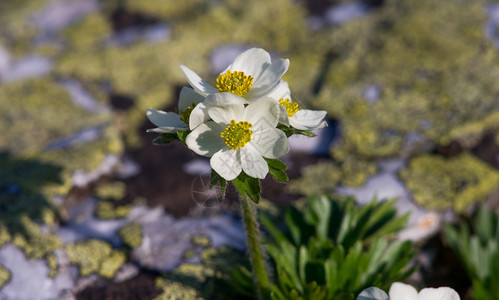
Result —
M 324 110 L 301 109 L 298 103 L 291 101 L 288 83 L 281 81 L 268 97 L 279 102 L 279 123 L 300 130 L 315 130 L 327 126 Z

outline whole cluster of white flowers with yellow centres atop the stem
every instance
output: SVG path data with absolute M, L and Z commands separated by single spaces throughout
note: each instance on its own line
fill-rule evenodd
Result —
M 159 143 L 181 140 L 211 157 L 221 180 L 276 175 L 283 168 L 273 160 L 289 151 L 290 135 L 312 135 L 311 130 L 326 126 L 325 111 L 302 109 L 293 101 L 281 79 L 288 67 L 288 59 L 272 62 L 267 51 L 252 48 L 237 56 L 213 86 L 182 65 L 191 87 L 182 88 L 178 113 L 149 109 L 157 128 L 148 132 L 161 133 Z

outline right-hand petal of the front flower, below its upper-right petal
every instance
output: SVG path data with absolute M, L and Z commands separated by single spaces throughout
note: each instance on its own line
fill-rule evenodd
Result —
M 257 153 L 266 158 L 279 158 L 289 152 L 286 134 L 271 127 L 261 127 L 258 131 L 254 131 L 246 147 L 248 146 L 254 147 Z

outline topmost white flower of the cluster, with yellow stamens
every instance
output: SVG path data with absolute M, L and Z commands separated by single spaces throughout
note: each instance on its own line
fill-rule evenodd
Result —
M 252 48 L 238 55 L 234 62 L 220 73 L 214 87 L 186 66 L 180 66 L 187 81 L 198 94 L 206 97 L 231 92 L 248 100 L 256 100 L 272 92 L 288 67 L 288 59 L 271 62 L 267 51 Z

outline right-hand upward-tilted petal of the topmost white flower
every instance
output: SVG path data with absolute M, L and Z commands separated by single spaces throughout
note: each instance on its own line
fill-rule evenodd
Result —
M 289 67 L 288 59 L 279 59 L 266 68 L 260 77 L 255 78 L 252 88 L 245 95 L 246 99 L 258 99 L 270 94 L 278 87 L 282 75 Z

